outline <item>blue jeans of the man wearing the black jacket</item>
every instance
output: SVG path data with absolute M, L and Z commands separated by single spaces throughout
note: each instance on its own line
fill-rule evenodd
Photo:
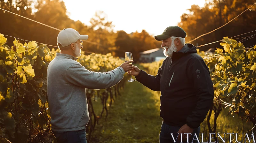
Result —
M 180 127 L 178 126 L 170 126 L 164 122 L 162 122 L 162 126 L 161 126 L 161 130 L 160 130 L 160 134 L 159 134 L 159 142 L 160 143 L 180 143 L 180 138 L 177 139 L 178 136 L 178 131 L 180 130 Z M 189 143 L 197 143 L 196 137 L 194 138 L 194 135 L 196 133 L 198 139 L 199 139 L 199 132 L 200 132 L 200 126 L 198 128 L 195 128 L 192 135 L 189 137 L 188 142 Z M 174 142 L 172 135 L 173 134 L 173 138 L 174 140 L 176 140 L 176 142 Z M 185 134 L 187 136 L 187 134 Z M 184 137 L 184 134 L 182 134 L 182 136 Z M 194 140 L 193 140 L 194 138 Z M 192 142 L 193 140 L 193 142 Z M 199 140 L 200 141 L 200 140 Z M 187 138 L 183 138 L 182 139 L 183 143 L 187 143 Z

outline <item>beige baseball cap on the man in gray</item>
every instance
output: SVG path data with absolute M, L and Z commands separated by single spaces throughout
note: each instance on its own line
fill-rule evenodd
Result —
M 57 42 L 61 44 L 61 47 L 66 47 L 77 40 L 87 40 L 88 38 L 88 35 L 80 35 L 73 28 L 64 28 L 58 34 Z

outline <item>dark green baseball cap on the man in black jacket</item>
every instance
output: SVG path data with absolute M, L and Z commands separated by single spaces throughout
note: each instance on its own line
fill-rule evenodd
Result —
M 187 33 L 181 27 L 179 27 L 179 26 L 170 26 L 170 27 L 167 27 L 164 30 L 163 34 L 155 36 L 155 39 L 157 41 L 162 41 L 162 40 L 167 39 L 171 36 L 185 38 L 186 35 L 187 35 Z

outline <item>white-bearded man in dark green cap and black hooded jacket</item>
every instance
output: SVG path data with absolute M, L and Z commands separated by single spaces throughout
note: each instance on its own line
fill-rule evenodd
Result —
M 163 41 L 166 56 L 156 76 L 136 66 L 128 71 L 144 86 L 161 91 L 160 143 L 200 142 L 200 124 L 212 106 L 214 90 L 209 68 L 196 47 L 185 44 L 185 37 L 186 32 L 179 26 L 167 27 L 155 36 Z

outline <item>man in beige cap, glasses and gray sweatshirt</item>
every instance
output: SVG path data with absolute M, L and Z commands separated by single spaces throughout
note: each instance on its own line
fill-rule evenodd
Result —
M 57 142 L 87 143 L 85 127 L 89 112 L 85 88 L 104 89 L 116 85 L 124 73 L 132 68 L 133 61 L 121 64 L 109 72 L 92 72 L 76 60 L 88 35 L 75 29 L 60 31 L 57 41 L 60 53 L 50 62 L 47 71 L 48 102 L 52 132 Z

